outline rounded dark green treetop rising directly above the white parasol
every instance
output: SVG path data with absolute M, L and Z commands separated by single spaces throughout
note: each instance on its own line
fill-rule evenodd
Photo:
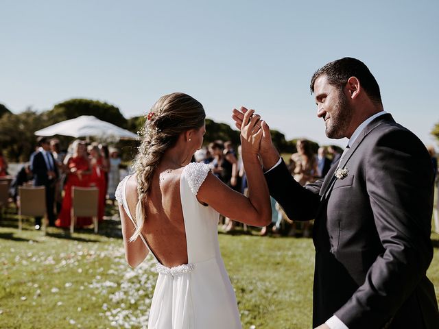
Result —
M 121 114 L 119 108 L 102 101 L 91 99 L 69 99 L 58 103 L 52 110 L 45 112 L 47 125 L 60 121 L 74 119 L 81 115 L 93 115 L 97 119 L 107 121 L 119 127 L 126 127 L 127 120 Z

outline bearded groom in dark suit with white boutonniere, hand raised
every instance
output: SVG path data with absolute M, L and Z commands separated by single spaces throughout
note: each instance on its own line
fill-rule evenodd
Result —
M 359 60 L 323 66 L 311 93 L 327 136 L 349 140 L 340 161 L 324 180 L 300 186 L 264 121 L 260 155 L 270 194 L 288 217 L 315 219 L 313 326 L 439 328 L 425 275 L 433 256 L 433 171 L 425 146 L 383 111 L 377 81 Z M 234 110 L 238 128 L 242 117 Z

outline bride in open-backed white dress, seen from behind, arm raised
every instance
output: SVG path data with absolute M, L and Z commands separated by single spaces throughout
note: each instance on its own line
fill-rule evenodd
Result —
M 233 191 L 206 164 L 190 162 L 206 132 L 206 114 L 183 93 L 158 99 L 142 132 L 135 174 L 117 188 L 126 260 L 149 252 L 158 279 L 148 328 L 241 328 L 237 301 L 219 252 L 219 213 L 252 226 L 271 221 L 268 187 L 257 157 L 263 134 L 258 115 L 241 128 L 248 197 Z

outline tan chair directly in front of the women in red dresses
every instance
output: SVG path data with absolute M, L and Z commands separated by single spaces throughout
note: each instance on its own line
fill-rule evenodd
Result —
M 73 234 L 77 217 L 92 217 L 95 234 L 97 234 L 99 190 L 95 187 L 72 186 L 71 197 L 70 234 Z

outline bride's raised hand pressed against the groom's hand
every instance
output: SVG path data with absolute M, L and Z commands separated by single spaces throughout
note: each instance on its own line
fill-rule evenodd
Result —
M 243 153 L 259 153 L 259 147 L 263 135 L 261 127 L 263 121 L 260 121 L 260 119 L 261 117 L 258 114 L 254 114 L 254 110 L 248 110 L 244 114 L 241 123 L 241 145 Z

